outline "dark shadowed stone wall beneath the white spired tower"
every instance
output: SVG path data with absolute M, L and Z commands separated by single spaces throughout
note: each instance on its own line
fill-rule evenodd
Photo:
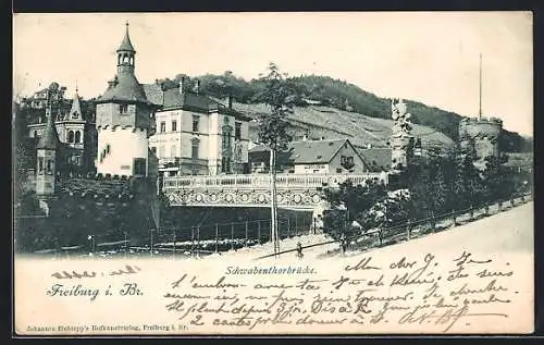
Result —
M 97 242 L 123 239 L 125 232 L 145 238 L 156 227 L 154 190 L 145 180 L 61 180 L 48 205 L 49 217 L 16 217 L 16 250 L 85 248 L 89 235 Z

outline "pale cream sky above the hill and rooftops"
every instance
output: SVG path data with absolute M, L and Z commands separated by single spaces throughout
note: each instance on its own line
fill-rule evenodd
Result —
M 251 79 L 274 62 L 463 116 L 478 115 L 482 54 L 484 115 L 533 133 L 531 12 L 15 14 L 14 94 L 58 82 L 101 95 L 126 22 L 140 83 L 224 71 Z

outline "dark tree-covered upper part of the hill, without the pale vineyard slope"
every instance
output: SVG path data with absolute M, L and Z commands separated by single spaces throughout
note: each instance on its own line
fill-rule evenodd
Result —
M 163 83 L 165 88 L 175 88 L 182 77 L 185 77 L 185 83 L 189 87 L 194 87 L 195 81 L 198 78 L 200 81 L 200 91 L 206 95 L 219 99 L 232 96 L 235 101 L 246 104 L 257 103 L 257 95 L 264 87 L 260 78 L 246 81 L 236 76 L 232 71 L 226 71 L 221 75 L 206 74 L 195 77 L 181 73 L 173 79 L 162 78 L 157 79 L 157 83 Z M 290 88 L 295 90 L 294 104 L 298 108 L 320 104 L 374 119 L 391 118 L 391 99 L 368 93 L 345 81 L 334 79 L 329 76 L 301 75 L 288 77 L 287 82 Z M 444 133 L 453 140 L 457 139 L 461 115 L 418 101 L 405 101 L 412 114 L 411 120 L 415 124 Z M 506 130 L 503 132 L 499 145 L 504 151 L 508 152 L 532 150 L 531 139 Z

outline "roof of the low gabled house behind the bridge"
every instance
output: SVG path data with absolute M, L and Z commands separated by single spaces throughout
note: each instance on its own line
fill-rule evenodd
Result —
M 325 139 L 293 141 L 287 151 L 277 155 L 281 162 L 292 164 L 323 164 L 329 163 L 348 139 Z M 268 152 L 269 149 L 259 145 L 249 150 L 249 153 L 259 156 L 259 152 Z

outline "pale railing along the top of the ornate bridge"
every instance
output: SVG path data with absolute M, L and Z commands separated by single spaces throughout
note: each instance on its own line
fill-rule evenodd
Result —
M 347 180 L 354 184 L 362 184 L 368 180 L 383 181 L 387 184 L 386 173 L 363 174 L 276 174 L 276 187 L 323 187 L 334 186 Z M 267 187 L 270 186 L 269 174 L 240 174 L 240 175 L 193 175 L 164 177 L 163 188 L 198 188 L 198 187 Z

